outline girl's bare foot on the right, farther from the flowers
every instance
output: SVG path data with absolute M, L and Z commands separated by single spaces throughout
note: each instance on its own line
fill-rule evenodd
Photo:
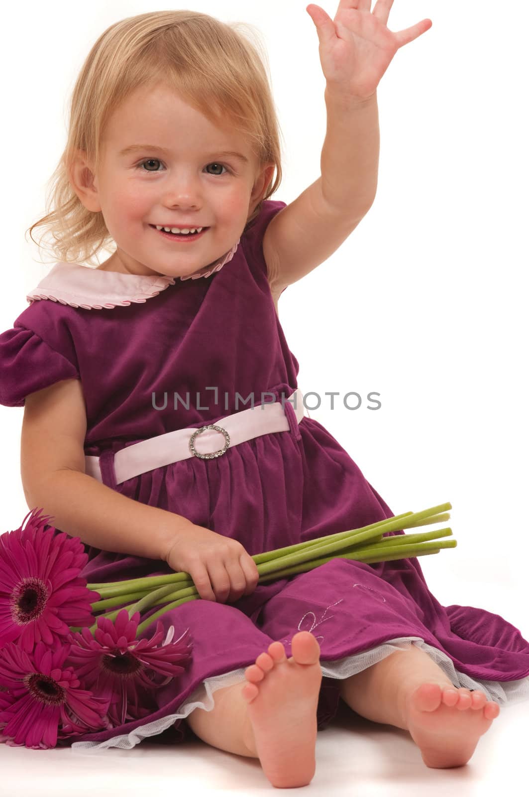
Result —
M 462 767 L 500 706 L 483 692 L 426 683 L 406 697 L 407 725 L 427 767 Z

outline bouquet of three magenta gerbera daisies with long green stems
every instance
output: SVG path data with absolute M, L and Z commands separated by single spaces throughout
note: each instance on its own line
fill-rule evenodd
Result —
M 395 536 L 447 520 L 450 508 L 405 512 L 257 554 L 259 583 L 335 558 L 374 563 L 455 548 L 456 540 L 438 540 L 451 536 L 450 528 Z M 80 538 L 44 528 L 50 518 L 40 512 L 33 509 L 20 528 L 0 535 L 0 741 L 49 749 L 157 711 L 155 690 L 178 678 L 192 650 L 189 629 L 173 641 L 170 626 L 163 638 L 159 617 L 200 598 L 183 572 L 87 583 L 80 575 L 88 562 Z M 159 605 L 140 623 L 142 612 Z M 151 638 L 139 638 L 153 622 Z

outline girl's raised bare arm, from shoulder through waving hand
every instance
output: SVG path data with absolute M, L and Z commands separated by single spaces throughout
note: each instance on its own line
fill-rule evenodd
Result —
M 432 26 L 387 27 L 393 0 L 339 0 L 335 18 L 314 3 L 306 10 L 319 40 L 327 80 L 327 138 L 321 177 L 280 210 L 263 239 L 272 292 L 279 294 L 338 249 L 374 202 L 378 180 L 377 87 L 394 54 Z

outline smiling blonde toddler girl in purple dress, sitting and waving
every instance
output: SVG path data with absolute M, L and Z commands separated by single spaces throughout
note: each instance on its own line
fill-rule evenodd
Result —
M 391 5 L 342 0 L 334 22 L 308 6 L 329 124 L 321 179 L 291 205 L 271 199 L 278 124 L 235 26 L 140 14 L 105 30 L 81 69 L 54 208 L 31 228 L 49 226 L 58 261 L 0 336 L 0 401 L 25 408 L 26 501 L 80 537 L 88 583 L 186 571 L 201 599 L 161 618 L 174 638 L 190 629 L 193 655 L 158 710 L 73 748 L 191 728 L 296 787 L 340 697 L 447 768 L 529 695 L 519 631 L 441 606 L 417 558 L 333 559 L 257 584 L 252 556 L 393 516 L 304 413 L 276 312 L 373 202 L 378 81 L 431 24 L 391 33 Z

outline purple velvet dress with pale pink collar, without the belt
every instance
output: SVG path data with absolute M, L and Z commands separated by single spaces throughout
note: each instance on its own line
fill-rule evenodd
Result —
M 45 277 L 29 294 L 29 308 L 0 335 L 2 404 L 23 406 L 33 391 L 80 379 L 88 421 L 84 451 L 102 457 L 104 483 L 237 539 L 250 555 L 394 512 L 339 442 L 308 417 L 216 459 L 190 457 L 120 485 L 112 458 L 140 440 L 245 409 L 240 398 L 236 405 L 237 393 L 253 393 L 256 402 L 261 392 L 272 393 L 280 401 L 298 387 L 299 366 L 276 315 L 262 250 L 264 230 L 284 206 L 265 201 L 233 257 L 206 278 L 88 274 L 83 265 L 57 264 L 53 283 Z M 206 390 L 214 386 L 218 397 Z M 189 394 L 189 409 L 182 401 L 174 408 L 174 392 L 184 401 Z M 88 583 L 171 572 L 161 560 L 86 549 Z M 441 606 L 417 558 L 378 564 L 335 559 L 262 584 L 237 603 L 184 603 L 162 622 L 166 631 L 174 625 L 174 639 L 189 628 L 193 652 L 184 673 L 156 693 L 159 709 L 80 737 L 73 748 L 131 748 L 162 733 L 164 740 L 183 740 L 190 730 L 182 719 L 197 707 L 213 708 L 215 689 L 244 681 L 245 668 L 270 642 L 280 640 L 292 655 L 298 630 L 314 634 L 321 649 L 319 730 L 335 716 L 339 679 L 411 644 L 455 686 L 482 689 L 500 705 L 529 697 L 529 643 L 519 630 L 484 609 Z

